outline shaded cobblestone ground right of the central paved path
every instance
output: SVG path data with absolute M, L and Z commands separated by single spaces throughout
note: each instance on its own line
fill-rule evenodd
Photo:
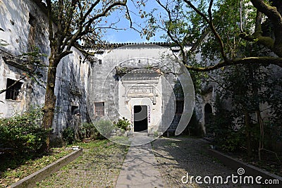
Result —
M 187 173 L 195 177 L 237 175 L 237 170 L 231 170 L 209 157 L 204 149 L 207 143 L 200 139 L 159 138 L 152 143 L 152 146 L 159 163 L 161 177 L 166 184 L 165 187 L 256 187 L 252 184 L 248 186 L 246 184 L 196 184 L 195 182 L 183 184 L 181 178 Z

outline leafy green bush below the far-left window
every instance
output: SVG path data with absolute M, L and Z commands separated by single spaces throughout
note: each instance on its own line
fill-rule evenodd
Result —
M 32 108 L 22 115 L 0 119 L 0 147 L 15 153 L 37 153 L 46 145 L 47 133 L 41 127 L 42 110 Z

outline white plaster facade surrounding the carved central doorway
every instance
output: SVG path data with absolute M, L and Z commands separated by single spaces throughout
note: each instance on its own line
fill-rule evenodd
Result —
M 159 67 L 163 67 L 167 65 L 168 67 L 173 67 L 175 62 L 171 61 L 171 59 L 164 58 L 164 55 L 172 56 L 171 51 L 168 48 L 163 48 L 161 46 L 156 46 L 152 44 L 135 44 L 130 46 L 123 46 L 118 49 L 114 49 L 109 51 L 109 53 L 104 53 L 102 55 L 97 56 L 97 58 L 102 59 L 102 64 L 96 63 L 92 69 L 92 103 L 104 101 L 105 103 L 105 116 L 110 120 L 117 120 L 117 118 L 125 117 L 128 120 L 133 120 L 132 117 L 132 107 L 134 104 L 140 104 L 140 101 L 143 99 L 131 98 L 128 104 L 125 104 L 125 88 L 121 83 L 121 80 L 114 81 L 115 75 L 115 67 L 120 65 L 121 67 L 139 67 L 146 68 L 147 66 L 157 65 Z M 156 105 L 152 105 L 152 101 L 148 101 L 145 103 L 142 101 L 142 104 L 150 106 L 151 109 L 151 122 L 149 123 L 149 129 L 152 132 L 157 131 L 161 125 L 167 125 L 167 123 L 162 122 L 162 116 L 164 113 L 169 113 L 171 111 L 170 108 L 167 108 L 166 103 L 163 101 L 163 85 L 168 84 L 166 91 L 166 99 L 174 99 L 171 98 L 171 93 L 173 93 L 173 84 L 175 80 L 161 81 L 165 80 L 164 76 L 159 78 L 159 82 L 157 84 L 157 93 L 158 96 L 156 98 Z M 174 96 L 174 95 L 173 95 Z M 169 103 L 169 106 L 173 106 L 173 101 Z M 94 108 L 94 106 L 92 106 Z M 174 108 L 173 108 L 174 109 Z M 94 109 L 92 109 L 94 111 Z M 171 113 L 174 115 L 173 113 Z M 171 115 L 171 120 L 173 119 L 173 115 Z M 95 115 L 92 114 L 94 120 L 99 120 L 99 118 L 95 118 Z M 168 118 L 169 119 L 169 118 Z M 169 124 L 168 124 L 169 125 Z M 162 130 L 162 129 L 159 129 Z

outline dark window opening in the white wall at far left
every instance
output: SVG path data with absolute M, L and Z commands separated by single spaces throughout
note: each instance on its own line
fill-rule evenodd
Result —
M 6 99 L 11 99 L 15 101 L 19 101 L 22 99 L 22 91 L 21 87 L 23 85 L 22 82 L 16 82 L 16 80 L 7 79 L 7 87 L 6 87 Z

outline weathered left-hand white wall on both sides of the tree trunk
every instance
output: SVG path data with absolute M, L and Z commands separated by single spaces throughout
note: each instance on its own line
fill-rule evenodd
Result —
M 17 80 L 23 73 L 23 70 L 7 65 L 3 56 L 8 58 L 16 57 L 27 51 L 31 46 L 39 47 L 40 53 L 50 54 L 48 40 L 47 15 L 44 14 L 35 1 L 0 1 L 0 39 L 1 43 L 7 42 L 8 46 L 0 46 L 0 89 L 6 88 L 7 78 Z M 85 61 L 84 56 L 76 49 L 73 54 L 63 58 L 59 63 L 56 75 L 55 94 L 57 96 L 57 113 L 54 119 L 54 136 L 60 137 L 63 127 L 70 125 L 73 116 L 71 115 L 71 106 L 79 106 L 80 119 L 87 120 L 87 76 L 90 73 L 90 62 Z M 42 58 L 42 61 L 48 65 L 48 58 Z M 20 63 L 20 61 L 18 61 Z M 42 71 L 43 80 L 47 80 L 47 68 Z M 73 92 L 73 89 L 78 93 Z M 0 95 L 0 115 L 9 117 L 15 111 L 22 113 L 27 108 L 35 104 L 44 104 L 44 87 L 30 79 L 23 80 L 23 99 L 12 101 L 5 99 L 5 93 Z

